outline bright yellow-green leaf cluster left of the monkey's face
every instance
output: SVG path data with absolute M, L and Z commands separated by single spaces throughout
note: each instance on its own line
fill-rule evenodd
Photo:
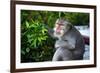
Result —
M 47 29 L 43 26 L 43 24 L 32 21 L 32 24 L 30 25 L 26 21 L 26 28 L 29 30 L 27 38 L 31 47 L 37 48 L 48 38 Z

